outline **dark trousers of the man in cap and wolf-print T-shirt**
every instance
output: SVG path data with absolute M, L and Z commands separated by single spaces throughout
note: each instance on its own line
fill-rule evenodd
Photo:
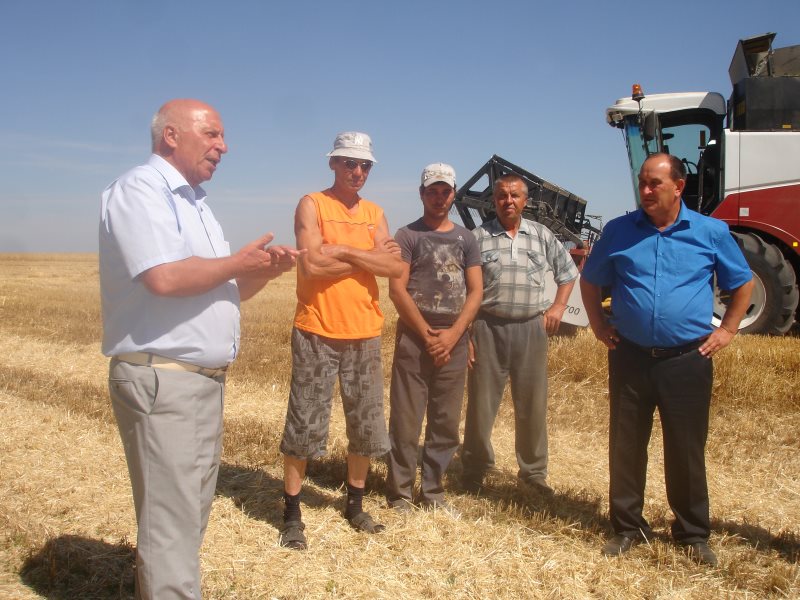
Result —
M 397 322 L 389 400 L 391 450 L 386 496 L 390 503 L 412 500 L 419 436 L 426 415 L 420 501 L 441 502 L 444 498 L 442 477 L 458 449 L 466 371 L 466 335 L 453 348 L 450 361 L 435 367 L 422 340 L 402 321 Z

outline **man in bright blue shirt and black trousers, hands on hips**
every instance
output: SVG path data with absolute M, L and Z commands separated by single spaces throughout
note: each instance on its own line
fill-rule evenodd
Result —
M 654 154 L 639 173 L 641 208 L 612 220 L 581 277 L 589 323 L 608 348 L 609 504 L 615 535 L 603 553 L 616 556 L 651 536 L 642 516 L 647 445 L 658 407 L 664 437 L 672 536 L 700 563 L 716 566 L 705 443 L 711 359 L 727 346 L 750 303 L 752 273 L 722 222 L 686 208 L 680 160 Z M 711 326 L 714 276 L 731 290 L 718 328 Z M 601 288 L 611 288 L 607 319 Z

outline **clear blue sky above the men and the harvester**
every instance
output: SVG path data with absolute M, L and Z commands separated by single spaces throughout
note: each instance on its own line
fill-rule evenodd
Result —
M 633 196 L 604 109 L 634 82 L 727 97 L 737 40 L 767 31 L 800 44 L 800 2 L 0 0 L 0 251 L 96 251 L 100 192 L 147 159 L 175 97 L 223 117 L 205 187 L 234 248 L 293 243 L 297 200 L 353 129 L 392 231 L 420 214 L 423 166 L 463 182 L 492 154 L 608 220 Z

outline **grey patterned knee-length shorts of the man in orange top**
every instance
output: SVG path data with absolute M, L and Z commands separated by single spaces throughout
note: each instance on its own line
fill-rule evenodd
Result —
M 303 459 L 326 453 L 337 377 L 347 451 L 360 456 L 381 456 L 389 451 L 380 338 L 337 340 L 294 328 L 292 384 L 281 452 Z

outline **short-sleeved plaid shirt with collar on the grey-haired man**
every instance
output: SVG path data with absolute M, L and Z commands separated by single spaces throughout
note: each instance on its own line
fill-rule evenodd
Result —
M 557 285 L 578 277 L 564 245 L 541 223 L 522 219 L 512 238 L 497 219 L 477 227 L 483 268 L 481 311 L 506 319 L 527 319 L 544 312 L 544 276 L 550 270 Z

